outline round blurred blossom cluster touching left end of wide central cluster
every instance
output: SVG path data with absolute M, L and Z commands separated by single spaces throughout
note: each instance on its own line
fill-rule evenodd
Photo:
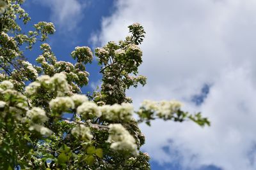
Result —
M 99 110 L 99 106 L 93 102 L 84 102 L 77 108 L 77 113 L 83 117 L 94 116 L 100 117 L 101 113 Z

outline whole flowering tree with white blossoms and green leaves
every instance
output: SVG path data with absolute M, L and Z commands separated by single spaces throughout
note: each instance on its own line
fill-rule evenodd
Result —
M 52 23 L 21 32 L 17 18 L 24 24 L 30 20 L 22 3 L 0 0 L 0 169 L 150 169 L 148 154 L 140 152 L 145 138 L 139 123 L 161 118 L 209 125 L 200 113 L 182 111 L 177 101 L 146 100 L 134 111 L 125 90 L 146 83 L 137 75 L 145 34 L 140 24 L 129 26 L 124 41 L 95 49 L 102 85 L 84 95 L 80 88 L 88 83 L 90 48 L 75 48 L 76 64 L 58 61 L 44 43 L 55 31 Z M 42 55 L 35 66 L 24 51 L 37 41 Z

